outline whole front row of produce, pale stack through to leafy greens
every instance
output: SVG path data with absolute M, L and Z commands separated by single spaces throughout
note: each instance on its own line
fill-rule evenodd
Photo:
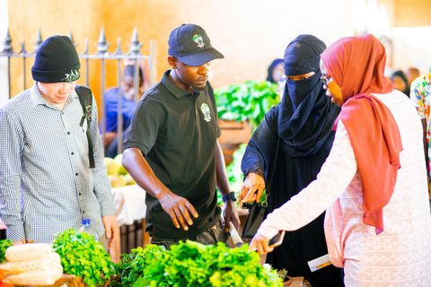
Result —
M 17 286 L 53 287 L 72 282 L 76 287 L 284 286 L 277 271 L 260 265 L 259 255 L 248 250 L 247 244 L 228 248 L 223 243 L 206 246 L 187 241 L 172 245 L 171 250 L 150 244 L 123 254 L 117 265 L 99 242 L 71 229 L 59 233 L 52 248 L 48 244 L 25 244 L 6 248 L 6 253 L 9 261 L 0 265 L 6 277 L 33 272 L 31 282 L 16 281 Z M 38 283 L 36 278 L 48 277 L 47 270 L 55 273 L 56 279 Z

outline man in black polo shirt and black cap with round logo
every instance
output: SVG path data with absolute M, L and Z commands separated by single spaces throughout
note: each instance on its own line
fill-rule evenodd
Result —
M 172 69 L 137 103 L 123 165 L 147 192 L 145 222 L 152 243 L 166 248 L 186 239 L 228 244 L 229 222 L 238 228 L 239 218 L 217 140 L 216 100 L 207 82 L 210 62 L 224 56 L 194 24 L 172 30 L 168 54 Z M 224 222 L 216 187 L 224 196 Z

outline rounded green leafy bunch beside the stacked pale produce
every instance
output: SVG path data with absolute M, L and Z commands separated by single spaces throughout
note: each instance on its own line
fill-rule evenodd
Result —
M 61 257 L 65 274 L 83 278 L 89 287 L 104 283 L 112 273 L 110 255 L 91 235 L 75 229 L 64 230 L 52 241 Z

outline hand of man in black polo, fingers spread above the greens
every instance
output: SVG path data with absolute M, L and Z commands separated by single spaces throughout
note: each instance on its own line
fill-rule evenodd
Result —
M 176 228 L 182 227 L 183 230 L 189 230 L 189 225 L 193 224 L 190 213 L 194 218 L 198 218 L 198 212 L 186 198 L 177 196 L 171 191 L 163 191 L 157 197 L 163 210 L 171 216 Z

